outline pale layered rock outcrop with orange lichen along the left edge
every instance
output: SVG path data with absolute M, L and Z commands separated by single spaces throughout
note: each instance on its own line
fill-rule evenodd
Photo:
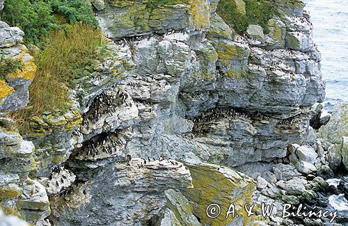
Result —
M 2 8 L 2 2 L 1 6 Z M 21 62 L 14 72 L 0 78 L 0 113 L 24 108 L 29 101 L 28 87 L 35 75 L 33 57 L 22 45 L 24 33 L 0 21 L 0 58 Z M 46 189 L 29 173 L 37 170 L 33 157 L 35 146 L 17 132 L 14 122 L 0 118 L 0 203 L 14 209 L 31 223 L 40 223 L 49 216 L 49 199 Z M 1 214 L 1 213 L 0 213 Z M 3 218 L 3 216 L 0 216 Z M 0 225 L 26 225 L 14 217 L 0 220 Z

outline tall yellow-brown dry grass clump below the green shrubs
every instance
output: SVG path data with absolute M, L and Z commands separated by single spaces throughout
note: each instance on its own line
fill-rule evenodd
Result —
M 82 22 L 66 25 L 42 36 L 42 49 L 32 53 L 38 71 L 29 87 L 29 105 L 13 113 L 20 131 L 29 131 L 29 119 L 45 111 L 69 107 L 68 88 L 74 79 L 90 74 L 102 57 L 102 32 Z

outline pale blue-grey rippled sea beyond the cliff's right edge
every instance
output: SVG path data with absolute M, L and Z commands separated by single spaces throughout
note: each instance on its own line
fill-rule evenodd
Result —
M 326 99 L 348 102 L 348 1 L 304 0 L 322 53 Z

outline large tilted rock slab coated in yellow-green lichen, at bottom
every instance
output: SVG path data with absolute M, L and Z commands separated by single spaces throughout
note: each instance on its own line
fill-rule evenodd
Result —
M 188 189 L 187 196 L 196 204 L 194 213 L 203 225 L 228 225 L 236 220 L 232 216 L 226 218 L 231 203 L 234 204 L 239 219 L 244 218 L 244 225 L 250 222 L 251 218 L 248 218 L 244 205 L 250 203 L 255 189 L 255 182 L 251 178 L 213 164 L 202 163 L 188 167 L 194 188 Z M 221 215 L 216 218 L 209 218 L 206 213 L 207 207 L 212 203 L 221 207 Z

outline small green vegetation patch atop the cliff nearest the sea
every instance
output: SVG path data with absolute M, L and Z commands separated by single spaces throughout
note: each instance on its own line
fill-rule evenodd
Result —
M 276 14 L 276 7 L 267 0 L 244 0 L 246 15 L 238 13 L 232 0 L 220 0 L 216 12 L 237 33 L 244 33 L 249 24 L 262 26 L 264 33 L 269 33 L 268 21 Z

